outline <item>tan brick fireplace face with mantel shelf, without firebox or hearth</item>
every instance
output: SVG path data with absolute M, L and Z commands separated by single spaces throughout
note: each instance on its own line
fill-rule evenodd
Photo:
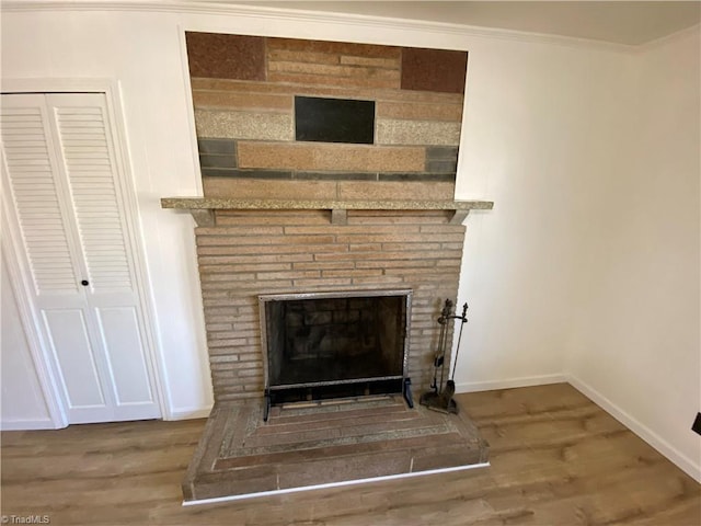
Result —
M 200 224 L 195 238 L 215 399 L 263 396 L 260 296 L 321 291 L 411 290 L 407 375 L 415 389 L 428 388 L 436 319 L 458 290 L 460 220 L 491 205 L 163 199 L 164 207 L 189 209 Z

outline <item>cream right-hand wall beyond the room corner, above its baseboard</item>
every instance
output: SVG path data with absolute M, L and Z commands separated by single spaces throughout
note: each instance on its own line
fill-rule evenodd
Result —
M 701 480 L 700 49 L 697 28 L 633 59 L 630 145 L 597 183 L 566 369 Z

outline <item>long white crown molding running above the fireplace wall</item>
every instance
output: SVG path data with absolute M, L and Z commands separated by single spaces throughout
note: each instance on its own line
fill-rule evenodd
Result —
M 635 53 L 640 46 L 616 44 L 588 38 L 577 38 L 543 33 L 481 27 L 474 25 L 429 22 L 409 19 L 369 16 L 361 14 L 303 11 L 296 9 L 271 8 L 264 5 L 240 5 L 229 2 L 210 2 L 198 0 L 4 0 L 0 1 L 0 12 L 163 12 L 175 14 L 197 14 L 216 16 L 237 16 L 273 19 L 277 21 L 295 21 L 321 24 L 355 25 L 379 30 L 400 30 L 438 35 L 456 35 L 473 38 L 498 38 L 525 43 L 550 44 L 566 47 L 587 47 L 613 53 Z M 292 36 L 292 35 L 290 35 Z M 455 47 L 455 46 L 453 46 Z M 464 47 L 464 46 L 463 46 Z

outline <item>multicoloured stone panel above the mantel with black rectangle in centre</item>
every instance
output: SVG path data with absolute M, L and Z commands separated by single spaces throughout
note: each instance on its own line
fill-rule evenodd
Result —
M 185 41 L 205 196 L 453 196 L 467 50 L 191 31 Z M 365 112 L 348 111 L 358 104 Z

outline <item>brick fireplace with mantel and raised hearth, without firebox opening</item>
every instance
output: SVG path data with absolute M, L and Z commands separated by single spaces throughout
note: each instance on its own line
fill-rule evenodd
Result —
M 401 378 L 410 377 L 421 393 L 433 377 L 443 301 L 457 296 L 462 219 L 492 203 L 208 197 L 161 203 L 189 210 L 198 224 L 215 393 L 183 481 L 186 503 L 489 465 L 489 446 L 468 415 L 417 403 L 409 408 L 397 390 L 379 398 L 343 392 L 345 398 L 323 403 L 283 400 L 267 409 L 260 302 L 298 295 L 411 294 Z M 323 316 L 344 312 L 352 319 L 354 308 L 335 306 Z

